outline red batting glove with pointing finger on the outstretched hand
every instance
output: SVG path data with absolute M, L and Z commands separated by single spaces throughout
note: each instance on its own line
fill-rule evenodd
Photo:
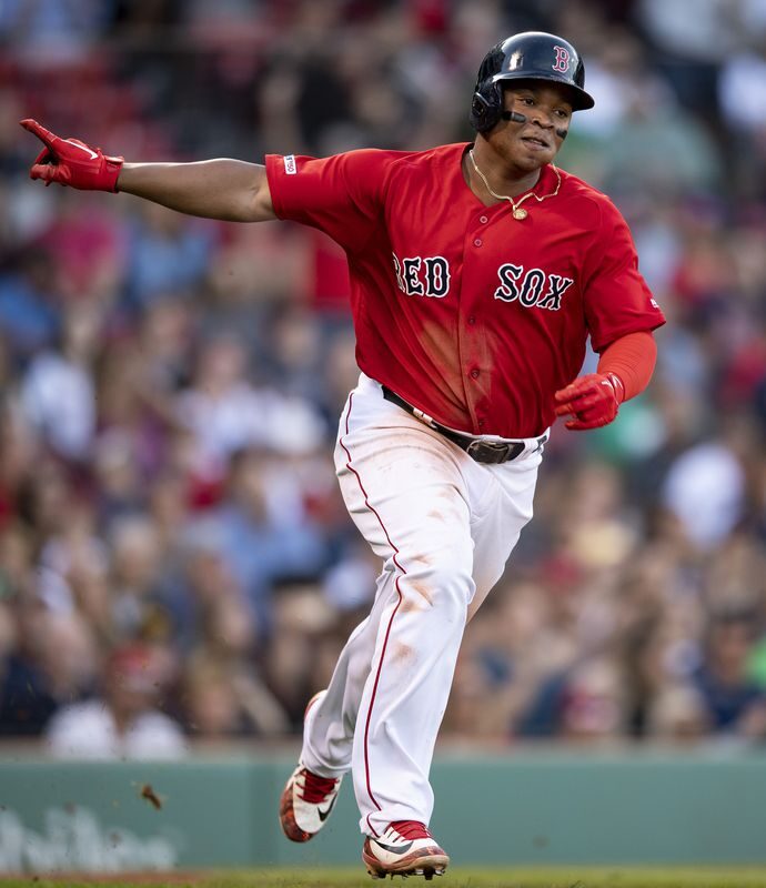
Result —
M 91 148 L 79 139 L 53 135 L 37 120 L 27 119 L 20 123 L 46 145 L 29 171 L 30 179 L 87 191 L 118 190 L 117 179 L 124 158 L 108 158 L 100 148 Z

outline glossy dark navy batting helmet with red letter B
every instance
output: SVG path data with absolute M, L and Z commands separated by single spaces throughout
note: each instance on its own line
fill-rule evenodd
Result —
M 505 80 L 547 80 L 567 87 L 575 111 L 595 102 L 583 89 L 585 65 L 577 50 L 561 37 L 524 31 L 493 47 L 484 57 L 471 102 L 471 124 L 477 132 L 491 130 L 503 114 Z

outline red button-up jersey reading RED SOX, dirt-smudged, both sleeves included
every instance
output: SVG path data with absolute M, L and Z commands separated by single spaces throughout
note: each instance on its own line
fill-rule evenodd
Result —
M 627 224 L 601 192 L 560 171 L 542 202 L 485 206 L 462 171 L 465 143 L 266 157 L 274 212 L 346 252 L 360 369 L 470 434 L 533 437 L 553 394 L 596 352 L 665 322 Z M 544 167 L 534 193 L 553 194 Z

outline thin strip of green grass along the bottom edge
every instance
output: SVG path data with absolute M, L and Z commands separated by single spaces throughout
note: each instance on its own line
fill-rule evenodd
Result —
M 478 869 L 454 867 L 443 878 L 420 877 L 396 888 L 766 888 L 765 867 L 561 867 Z M 33 876 L 0 878 L 2 888 L 354 888 L 391 885 L 359 869 L 253 869 L 241 872 L 138 874 L 135 876 Z

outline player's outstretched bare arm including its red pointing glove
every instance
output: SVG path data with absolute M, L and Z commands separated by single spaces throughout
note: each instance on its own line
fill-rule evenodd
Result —
M 78 139 L 62 139 L 36 120 L 21 125 L 44 148 L 30 170 L 47 185 L 125 191 L 190 215 L 232 222 L 275 219 L 265 168 L 239 160 L 196 163 L 125 163 Z

